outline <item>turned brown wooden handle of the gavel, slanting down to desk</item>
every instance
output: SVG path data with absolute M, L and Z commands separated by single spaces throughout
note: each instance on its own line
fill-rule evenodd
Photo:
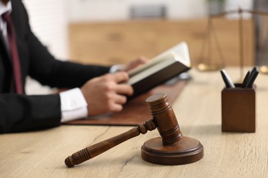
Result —
M 76 153 L 72 154 L 71 156 L 65 159 L 65 164 L 68 167 L 74 167 L 74 165 L 90 160 L 91 158 L 96 157 L 97 155 L 100 155 L 101 153 L 104 153 L 105 151 L 115 147 L 116 145 L 126 140 L 139 136 L 140 133 L 144 134 L 148 130 L 152 131 L 155 128 L 156 128 L 156 125 L 153 119 L 148 120 L 143 125 L 138 125 L 137 127 L 129 131 L 126 131 L 118 136 L 109 138 L 97 144 L 93 144 L 90 147 L 77 151 Z

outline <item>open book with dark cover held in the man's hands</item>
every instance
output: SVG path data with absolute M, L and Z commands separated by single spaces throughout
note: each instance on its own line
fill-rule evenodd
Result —
M 190 68 L 188 45 L 186 42 L 180 42 L 160 53 L 150 62 L 129 71 L 128 84 L 134 89 L 132 97 L 163 84 L 168 79 L 186 72 Z

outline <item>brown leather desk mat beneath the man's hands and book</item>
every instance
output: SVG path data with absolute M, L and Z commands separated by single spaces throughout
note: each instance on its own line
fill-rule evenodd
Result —
M 178 80 L 175 81 L 174 84 L 157 86 L 149 92 L 131 99 L 128 103 L 126 103 L 126 105 L 124 105 L 122 112 L 74 120 L 69 123 L 65 123 L 65 125 L 139 125 L 152 118 L 150 115 L 150 109 L 146 103 L 146 99 L 148 97 L 158 92 L 165 92 L 168 95 L 168 101 L 172 104 L 186 83 L 186 80 Z

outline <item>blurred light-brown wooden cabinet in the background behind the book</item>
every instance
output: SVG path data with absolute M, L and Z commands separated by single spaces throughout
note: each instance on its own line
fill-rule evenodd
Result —
M 215 18 L 212 21 L 227 66 L 239 65 L 238 21 Z M 188 42 L 192 64 L 201 60 L 207 19 L 188 21 L 148 20 L 69 24 L 69 51 L 76 62 L 124 64 L 138 56 L 153 58 L 178 42 Z M 243 62 L 255 64 L 254 23 L 243 21 Z M 213 40 L 213 38 L 212 38 Z M 214 63 L 220 62 L 214 42 L 210 49 Z M 205 59 L 202 59 L 205 62 Z

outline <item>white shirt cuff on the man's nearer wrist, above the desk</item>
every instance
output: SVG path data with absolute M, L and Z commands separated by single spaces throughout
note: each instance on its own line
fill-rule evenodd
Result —
M 79 88 L 60 92 L 61 123 L 87 117 L 87 101 Z

